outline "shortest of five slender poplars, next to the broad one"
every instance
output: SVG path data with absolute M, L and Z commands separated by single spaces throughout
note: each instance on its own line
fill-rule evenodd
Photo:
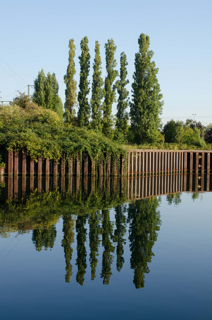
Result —
M 127 131 L 127 122 L 128 122 L 128 114 L 126 112 L 126 108 L 128 106 L 128 95 L 129 91 L 126 90 L 125 86 L 129 83 L 129 80 L 126 80 L 127 71 L 126 66 L 128 65 L 126 61 L 126 54 L 124 52 L 121 53 L 120 57 L 120 80 L 116 81 L 116 88 L 118 92 L 118 105 L 117 105 L 117 121 L 116 121 L 116 134 L 115 138 L 117 140 L 125 139 L 126 131 Z

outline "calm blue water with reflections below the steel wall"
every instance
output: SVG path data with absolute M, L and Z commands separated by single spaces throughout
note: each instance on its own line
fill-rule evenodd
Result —
M 168 179 L 135 200 L 135 180 L 5 178 L 1 318 L 211 319 L 212 193 Z

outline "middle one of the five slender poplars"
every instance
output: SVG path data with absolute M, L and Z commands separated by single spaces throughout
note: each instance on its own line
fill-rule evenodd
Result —
M 105 90 L 103 88 L 104 81 L 102 75 L 102 61 L 99 50 L 100 44 L 96 41 L 95 44 L 95 58 L 93 63 L 93 82 L 92 82 L 92 96 L 91 96 L 91 109 L 92 109 L 92 121 L 91 127 L 96 131 L 102 129 L 102 98 L 104 97 Z

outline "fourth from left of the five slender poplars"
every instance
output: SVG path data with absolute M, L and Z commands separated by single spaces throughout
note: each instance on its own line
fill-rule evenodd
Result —
M 105 99 L 103 106 L 103 133 L 106 137 L 110 138 L 112 134 L 112 116 L 111 109 L 113 102 L 116 102 L 115 85 L 113 82 L 118 76 L 118 70 L 114 68 L 117 66 L 114 54 L 116 52 L 116 46 L 113 39 L 108 39 L 105 44 L 105 59 L 106 59 L 106 71 L 107 76 L 105 77 L 104 88 L 105 88 Z

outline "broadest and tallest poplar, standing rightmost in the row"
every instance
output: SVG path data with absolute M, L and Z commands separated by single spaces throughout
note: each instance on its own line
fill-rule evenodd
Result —
M 130 103 L 131 128 L 135 142 L 153 143 L 157 140 L 163 101 L 156 77 L 158 68 L 151 61 L 150 38 L 142 33 L 138 38 L 139 52 L 135 54 L 135 72 Z

